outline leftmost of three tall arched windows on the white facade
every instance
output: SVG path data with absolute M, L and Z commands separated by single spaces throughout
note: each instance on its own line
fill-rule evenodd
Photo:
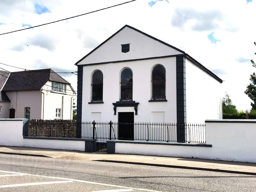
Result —
M 97 70 L 91 80 L 91 101 L 103 101 L 103 74 Z

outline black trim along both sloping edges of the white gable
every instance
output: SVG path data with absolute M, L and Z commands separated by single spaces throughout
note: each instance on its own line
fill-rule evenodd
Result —
M 161 41 L 161 40 L 159 40 L 159 39 L 157 39 L 157 38 L 155 38 L 155 37 L 153 37 L 153 36 L 151 36 L 151 35 L 149 35 L 149 34 L 146 34 L 146 33 L 142 32 L 142 31 L 140 31 L 140 30 L 134 28 L 134 27 L 131 27 L 131 26 L 129 26 L 129 25 L 125 25 L 125 26 L 123 26 L 121 29 L 119 29 L 116 33 L 114 33 L 113 35 L 111 35 L 110 37 L 108 37 L 108 39 L 106 39 L 105 41 L 103 41 L 100 45 L 98 45 L 98 47 L 96 47 L 95 49 L 93 49 L 90 53 L 88 53 L 88 54 L 85 55 L 82 59 L 80 59 L 78 62 L 76 62 L 75 65 L 77 65 L 80 61 L 82 61 L 84 58 L 86 58 L 88 55 L 90 55 L 90 54 L 91 54 L 92 52 L 94 52 L 96 49 L 98 49 L 99 47 L 101 47 L 101 45 L 103 45 L 103 44 L 106 43 L 109 39 L 111 39 L 112 37 L 114 37 L 116 34 L 118 34 L 118 33 L 119 33 L 121 30 L 123 30 L 125 27 L 129 27 L 130 29 L 133 29 L 133 30 L 135 30 L 135 31 L 137 31 L 137 32 L 139 32 L 139 33 L 141 33 L 141 34 L 144 34 L 144 35 L 146 35 L 146 36 L 148 36 L 148 37 L 150 37 L 150 38 L 152 38 L 152 39 L 154 39 L 154 40 L 156 40 L 156 41 L 159 41 L 159 42 L 162 43 L 162 44 L 167 45 L 168 47 L 171 47 L 171 48 L 173 48 L 173 49 L 175 49 L 175 50 L 177 50 L 177 51 L 179 51 L 179 52 L 185 54 L 184 51 L 182 51 L 182 50 L 180 50 L 180 49 L 178 49 L 178 48 L 176 48 L 176 47 L 174 47 L 174 46 L 172 46 L 172 45 L 170 45 L 170 44 L 168 44 L 168 43 L 165 43 L 164 41 Z

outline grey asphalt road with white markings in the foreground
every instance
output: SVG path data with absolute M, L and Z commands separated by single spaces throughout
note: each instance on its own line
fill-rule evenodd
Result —
M 0 191 L 246 191 L 256 176 L 0 154 Z

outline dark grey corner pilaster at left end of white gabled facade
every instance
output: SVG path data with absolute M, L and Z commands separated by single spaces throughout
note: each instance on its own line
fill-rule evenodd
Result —
M 76 136 L 81 137 L 81 124 L 82 121 L 82 92 L 83 92 L 83 66 L 77 66 L 77 100 L 76 100 Z

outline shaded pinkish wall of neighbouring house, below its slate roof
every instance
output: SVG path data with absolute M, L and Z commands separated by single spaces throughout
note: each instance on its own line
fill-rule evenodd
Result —
M 25 118 L 25 107 L 30 107 L 30 119 L 41 119 L 42 93 L 39 90 L 5 91 L 5 93 L 11 100 L 9 109 L 15 109 L 15 119 Z

